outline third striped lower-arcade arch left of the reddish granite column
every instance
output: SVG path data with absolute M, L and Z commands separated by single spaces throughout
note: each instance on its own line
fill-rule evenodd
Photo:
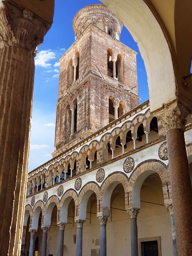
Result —
M 86 184 L 80 191 L 78 199 L 79 199 L 79 219 L 86 220 L 86 209 L 87 202 L 90 196 L 95 193 L 97 197 L 97 210 L 99 208 L 99 200 L 102 200 L 100 189 L 96 183 L 90 182 Z

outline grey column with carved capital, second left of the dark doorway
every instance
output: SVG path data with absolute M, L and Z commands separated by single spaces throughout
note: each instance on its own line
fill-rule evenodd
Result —
M 100 256 L 107 255 L 106 225 L 108 217 L 100 216 Z

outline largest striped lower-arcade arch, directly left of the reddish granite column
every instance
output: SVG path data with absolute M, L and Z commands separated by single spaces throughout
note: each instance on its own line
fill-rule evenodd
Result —
M 169 171 L 163 162 L 151 159 L 137 165 L 129 179 L 129 207 L 140 209 L 140 189 L 144 180 L 151 174 L 158 173 L 162 182 L 164 200 L 172 198 Z M 167 190 L 169 189 L 169 193 Z

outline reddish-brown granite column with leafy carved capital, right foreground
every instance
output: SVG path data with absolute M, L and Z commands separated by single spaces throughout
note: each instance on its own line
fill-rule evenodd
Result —
M 174 102 L 156 116 L 162 119 L 167 136 L 178 255 L 192 255 L 192 189 L 184 138 L 188 110 Z

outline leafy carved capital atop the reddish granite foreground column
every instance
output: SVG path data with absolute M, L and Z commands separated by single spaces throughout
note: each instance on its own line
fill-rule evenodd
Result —
M 185 106 L 180 102 L 174 102 L 155 115 L 162 120 L 165 132 L 175 128 L 181 129 L 184 132 L 188 114 L 189 111 Z

